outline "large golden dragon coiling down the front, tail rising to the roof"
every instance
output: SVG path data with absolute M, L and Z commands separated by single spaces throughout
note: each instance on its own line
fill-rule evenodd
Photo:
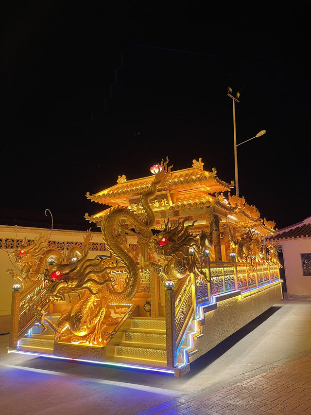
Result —
M 141 195 L 142 214 L 134 213 L 127 207 L 117 207 L 104 217 L 102 235 L 106 248 L 112 253 L 111 259 L 87 258 L 90 232 L 85 237 L 82 249 L 71 249 L 61 263 L 50 258 L 43 272 L 44 277 L 52 281 L 48 289 L 50 298 L 64 300 L 66 295 L 76 297 L 56 324 L 44 315 L 40 307 L 33 307 L 37 320 L 50 325 L 57 341 L 70 336 L 71 343 L 103 344 L 103 334 L 107 334 L 105 329 L 116 324 L 122 314 L 122 310 L 117 312 L 113 304 L 125 305 L 137 293 L 140 271 L 135 260 L 124 249 L 125 232 L 130 232 L 124 223 L 131 224 L 140 238 L 150 241 L 155 216 L 149 200 L 155 196 L 157 187 L 164 186 L 169 178 L 172 166 L 168 167 L 167 164 L 168 158 L 166 162 L 162 160 L 150 188 Z M 109 274 L 117 267 L 117 262 L 127 271 L 121 290 Z

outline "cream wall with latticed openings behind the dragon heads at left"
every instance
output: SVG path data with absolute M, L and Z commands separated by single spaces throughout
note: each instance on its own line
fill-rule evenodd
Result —
M 12 286 L 15 284 L 15 280 L 6 272 L 8 269 L 14 269 L 10 261 L 10 254 L 13 252 L 17 240 L 23 239 L 24 236 L 27 236 L 27 239 L 35 239 L 42 235 L 49 238 L 50 230 L 18 227 L 16 234 L 13 226 L 0 226 L 0 334 L 9 332 Z M 61 249 L 64 245 L 66 246 L 66 242 L 83 242 L 85 235 L 85 231 L 53 230 L 50 241 L 58 242 L 58 247 Z M 93 245 L 89 251 L 89 257 L 95 258 L 100 254 L 110 255 L 107 251 L 101 251 L 104 248 L 102 234 L 93 232 L 92 236 Z M 14 261 L 12 262 L 14 263 Z

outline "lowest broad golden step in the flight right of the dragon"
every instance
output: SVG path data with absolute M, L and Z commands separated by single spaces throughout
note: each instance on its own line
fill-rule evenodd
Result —
M 136 343 L 133 346 L 126 343 L 124 346 L 116 345 L 115 357 L 166 362 L 166 348 L 165 350 L 153 349 L 150 345 L 138 347 Z

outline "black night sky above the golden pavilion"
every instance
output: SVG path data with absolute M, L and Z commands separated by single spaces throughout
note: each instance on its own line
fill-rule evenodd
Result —
M 87 191 L 166 156 L 234 180 L 228 86 L 241 90 L 238 142 L 267 131 L 238 147 L 240 196 L 277 228 L 311 215 L 307 12 L 203 5 L 4 7 L 2 224 L 48 224 L 49 208 L 56 227 L 85 230 L 85 213 L 105 208 Z

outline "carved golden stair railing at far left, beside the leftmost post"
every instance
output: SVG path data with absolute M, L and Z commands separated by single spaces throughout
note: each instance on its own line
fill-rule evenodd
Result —
M 18 340 L 35 323 L 32 305 L 46 310 L 49 306 L 47 288 L 51 283 L 47 280 L 35 281 L 24 291 L 13 291 L 11 306 L 10 341 L 12 348 L 17 347 Z

